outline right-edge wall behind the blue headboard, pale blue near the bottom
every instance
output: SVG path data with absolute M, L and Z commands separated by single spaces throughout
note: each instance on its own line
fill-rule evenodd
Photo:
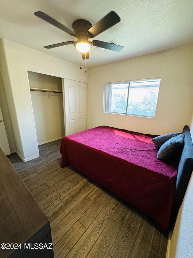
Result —
M 190 132 L 193 139 L 193 113 L 190 120 Z M 193 174 L 191 176 L 185 198 L 179 209 L 168 245 L 167 258 L 186 258 L 193 257 Z

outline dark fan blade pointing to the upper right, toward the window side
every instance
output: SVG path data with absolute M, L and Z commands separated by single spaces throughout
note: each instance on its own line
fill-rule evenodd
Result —
M 108 28 L 112 27 L 116 23 L 121 21 L 118 14 L 114 11 L 110 11 L 106 16 L 104 16 L 100 21 L 94 24 L 89 30 L 89 37 L 94 38 L 103 31 L 106 31 Z

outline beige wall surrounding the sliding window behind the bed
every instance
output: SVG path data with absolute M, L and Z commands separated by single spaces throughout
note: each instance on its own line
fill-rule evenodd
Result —
M 181 131 L 193 110 L 193 45 L 89 69 L 87 128 L 106 125 L 150 134 Z M 155 118 L 103 113 L 103 84 L 161 77 Z

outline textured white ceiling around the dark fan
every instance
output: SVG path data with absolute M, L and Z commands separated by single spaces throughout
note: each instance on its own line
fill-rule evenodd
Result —
M 36 49 L 80 65 L 81 56 L 74 45 L 53 49 L 43 46 L 75 37 L 36 17 L 43 11 L 72 29 L 72 22 L 85 19 L 95 24 L 109 11 L 121 21 L 93 39 L 115 41 L 121 52 L 101 52 L 92 47 L 87 67 L 112 63 L 193 43 L 192 0 L 1 0 L 0 38 Z M 92 40 L 93 40 L 92 39 Z M 81 61 L 85 64 L 85 61 Z

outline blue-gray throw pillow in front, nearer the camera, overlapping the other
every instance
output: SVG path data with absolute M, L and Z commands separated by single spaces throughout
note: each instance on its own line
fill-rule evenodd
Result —
M 184 134 L 179 134 L 166 141 L 157 152 L 157 159 L 165 159 L 175 155 L 184 145 Z

